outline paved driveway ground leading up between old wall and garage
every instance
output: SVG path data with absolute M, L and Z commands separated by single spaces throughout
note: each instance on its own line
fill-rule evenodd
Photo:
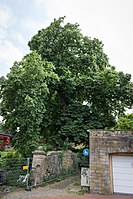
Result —
M 96 195 L 83 193 L 80 184 L 75 184 L 75 178 L 69 178 L 46 187 L 38 187 L 31 191 L 24 189 L 5 193 L 2 199 L 133 199 L 133 196 L 123 195 Z M 84 195 L 83 195 L 84 194 Z

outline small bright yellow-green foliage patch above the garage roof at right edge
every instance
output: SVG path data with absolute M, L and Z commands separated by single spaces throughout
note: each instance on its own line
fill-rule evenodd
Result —
M 114 129 L 133 130 L 133 113 L 119 117 Z

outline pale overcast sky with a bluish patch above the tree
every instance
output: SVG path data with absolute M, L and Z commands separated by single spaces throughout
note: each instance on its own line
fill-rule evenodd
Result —
M 39 29 L 64 15 L 102 40 L 110 64 L 133 78 L 133 0 L 0 0 L 0 76 L 29 52 Z

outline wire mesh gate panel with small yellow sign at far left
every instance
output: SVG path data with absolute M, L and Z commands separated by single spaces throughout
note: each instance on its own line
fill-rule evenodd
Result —
M 0 158 L 0 185 L 28 188 L 31 164 L 32 158 Z

